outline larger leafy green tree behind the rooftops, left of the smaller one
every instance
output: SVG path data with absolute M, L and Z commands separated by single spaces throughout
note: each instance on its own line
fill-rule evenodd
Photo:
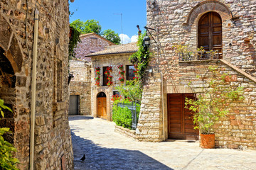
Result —
M 87 20 L 85 22 L 80 21 L 80 19 L 70 23 L 70 26 L 78 30 L 80 33 L 97 33 L 100 35 L 102 27 L 99 25 L 99 21 Z

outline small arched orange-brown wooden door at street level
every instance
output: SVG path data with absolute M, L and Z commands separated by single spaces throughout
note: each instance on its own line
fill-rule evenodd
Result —
M 107 96 L 103 92 L 97 94 L 97 117 L 107 119 Z

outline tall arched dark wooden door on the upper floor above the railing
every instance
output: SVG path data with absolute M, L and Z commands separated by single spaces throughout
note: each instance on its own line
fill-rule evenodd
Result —
M 198 23 L 198 47 L 206 51 L 218 50 L 219 58 L 223 56 L 222 20 L 218 13 L 204 14 Z

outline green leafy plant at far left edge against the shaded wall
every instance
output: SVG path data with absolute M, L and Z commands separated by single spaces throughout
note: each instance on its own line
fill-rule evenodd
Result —
M 0 99 L 0 111 L 1 115 L 4 117 L 4 112 L 2 109 L 7 109 L 11 111 L 11 108 L 4 106 L 4 100 Z M 16 164 L 18 164 L 18 159 L 14 158 L 16 148 L 13 147 L 9 142 L 4 140 L 4 133 L 10 132 L 9 128 L 0 128 L 0 169 L 11 169 L 16 170 Z

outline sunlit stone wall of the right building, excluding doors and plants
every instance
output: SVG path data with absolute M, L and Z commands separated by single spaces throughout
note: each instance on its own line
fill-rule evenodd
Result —
M 146 1 L 147 3 L 147 26 L 155 28 L 151 31 L 157 44 L 151 45 L 154 53 L 149 67 L 154 72 L 158 70 L 164 77 L 158 90 L 164 94 L 162 113 L 164 118 L 161 123 L 156 124 L 159 134 L 164 138 L 168 137 L 167 132 L 167 94 L 201 93 L 200 86 L 203 86 L 196 78 L 196 74 L 206 71 L 209 65 L 216 63 L 179 62 L 178 54 L 174 51 L 174 45 L 187 45 L 188 50 L 196 51 L 198 47 L 198 21 L 204 13 L 215 11 L 220 14 L 223 20 L 223 60 L 220 67 L 223 67 L 231 77 L 235 77 L 230 82 L 231 87 L 244 86 L 245 100 L 242 103 L 232 103 L 230 114 L 215 126 L 217 147 L 228 148 L 248 148 L 255 149 L 255 4 L 256 1 L 230 1 L 230 0 L 209 0 L 209 1 Z M 157 53 L 159 47 L 159 53 Z M 235 68 L 235 69 L 234 69 Z M 246 73 L 249 76 L 248 78 Z M 154 84 L 156 75 L 148 75 L 149 84 Z M 210 76 L 209 76 L 210 77 Z M 195 81 L 195 86 L 191 89 L 187 86 L 189 81 Z M 146 84 L 147 86 L 147 84 Z M 144 88 L 145 91 L 145 88 Z M 160 94 L 161 94 L 160 93 Z M 143 98 L 151 94 L 143 94 Z M 163 103 L 162 103 L 163 102 Z M 149 100 L 148 105 L 153 106 L 153 101 Z M 142 111 L 149 106 L 142 106 Z M 150 111 L 150 115 L 159 111 Z M 143 115 L 143 114 L 142 114 Z M 147 114 L 149 115 L 149 113 Z M 152 124 L 151 116 L 147 121 Z M 148 125 L 146 124 L 146 125 Z M 144 127 L 146 127 L 144 125 Z M 161 129 L 163 125 L 164 130 Z M 145 134 L 150 128 L 144 128 Z M 154 135 L 147 136 L 153 139 Z M 153 141 L 153 140 L 151 140 Z

